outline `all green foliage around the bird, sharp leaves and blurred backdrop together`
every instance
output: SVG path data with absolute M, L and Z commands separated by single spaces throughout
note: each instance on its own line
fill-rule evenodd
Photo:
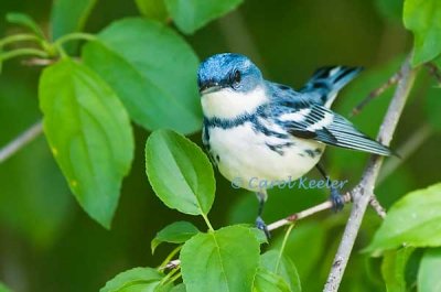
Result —
M 11 11 L 26 13 L 35 23 L 18 13 L 8 14 L 7 23 Z M 1 35 L 36 35 L 24 44 L 2 47 L 2 54 L 36 41 L 32 47 L 41 46 L 43 57 L 62 57 L 46 68 L 23 66 L 17 60 L 2 63 L 0 145 L 43 113 L 46 133 L 46 139 L 37 138 L 0 164 L 0 282 L 13 291 L 123 291 L 131 284 L 128 289 L 133 291 L 153 291 L 159 283 L 169 291 L 172 286 L 162 272 L 135 267 L 157 267 L 175 248 L 162 242 L 186 240 L 181 259 L 189 291 L 204 291 L 205 285 L 225 279 L 232 291 L 251 285 L 258 291 L 299 291 L 300 285 L 302 291 L 320 291 L 347 207 L 337 215 L 324 213 L 302 220 L 286 238 L 283 230 L 275 231 L 271 246 L 263 246 L 259 256 L 261 238 L 252 228 L 224 227 L 254 221 L 254 195 L 232 188 L 215 172 L 213 203 L 213 173 L 201 150 L 174 132 L 150 132 L 174 129 L 201 144 L 195 71 L 200 60 L 214 53 L 244 53 L 267 78 L 297 88 L 316 67 L 363 65 L 366 72 L 335 105 L 346 116 L 398 69 L 411 47 L 413 65 L 441 63 L 437 0 L 405 4 L 398 0 L 277 4 L 269 0 L 82 0 L 75 4 L 40 0 L 3 1 L 0 12 Z M 65 36 L 79 31 L 90 34 Z M 79 56 L 82 63 L 67 55 Z M 375 136 L 390 96 L 388 89 L 352 120 Z M 440 100 L 435 82 L 421 67 L 392 142 L 394 148 L 410 152 L 402 161 L 387 160 L 376 190 L 386 207 L 398 202 L 381 227 L 376 215 L 367 214 L 341 291 L 412 291 L 417 284 L 419 291 L 437 291 L 441 191 L 439 185 L 426 187 L 440 182 Z M 149 136 L 147 173 L 158 197 L 144 174 Z M 90 153 L 90 149 L 103 151 Z M 347 179 L 351 187 L 366 160 L 366 154 L 330 148 L 324 164 L 333 177 Z M 319 177 L 315 172 L 310 176 Z M 183 202 L 170 196 L 176 190 L 185 194 Z M 404 197 L 413 190 L 420 191 Z M 326 195 L 320 190 L 275 191 L 265 218 L 282 218 Z M 159 198 L 171 208 L 202 216 L 183 215 Z M 152 256 L 150 241 L 155 234 L 178 220 L 191 223 L 163 229 L 151 245 Z M 205 232 L 207 227 L 216 231 Z M 246 248 L 241 242 L 247 242 Z M 400 248 L 402 242 L 410 247 Z M 228 245 L 237 258 L 219 252 L 218 262 L 205 262 L 204 255 L 215 252 L 216 245 Z M 281 258 L 280 249 L 284 250 Z M 362 249 L 365 252 L 358 252 Z M 198 269 L 189 264 L 190 259 Z M 224 280 L 201 278 L 205 264 L 213 270 L 226 267 Z M 173 291 L 183 289 L 176 285 Z

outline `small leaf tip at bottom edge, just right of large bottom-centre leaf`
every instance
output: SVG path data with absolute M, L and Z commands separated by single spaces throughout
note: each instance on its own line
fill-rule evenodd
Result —
M 265 268 L 259 268 L 252 284 L 252 292 L 291 292 L 290 286 L 280 275 Z

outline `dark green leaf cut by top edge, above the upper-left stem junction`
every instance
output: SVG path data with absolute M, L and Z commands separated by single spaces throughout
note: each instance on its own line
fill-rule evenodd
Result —
M 53 40 L 82 31 L 96 2 L 97 0 L 54 1 L 51 13 Z

